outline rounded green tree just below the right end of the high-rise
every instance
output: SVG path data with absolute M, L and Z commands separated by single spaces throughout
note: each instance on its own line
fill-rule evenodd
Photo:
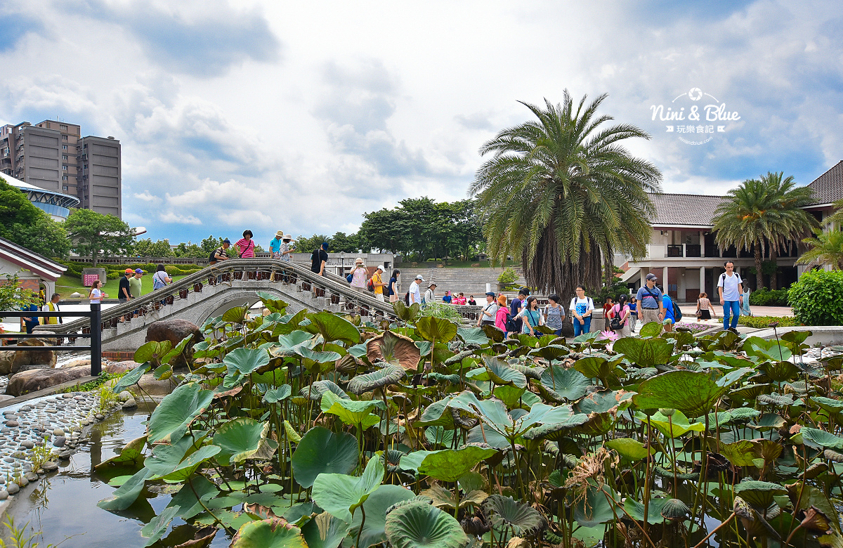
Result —
M 134 244 L 132 227 L 114 215 L 103 215 L 91 209 L 76 209 L 64 223 L 71 249 L 79 255 L 91 255 L 93 266 L 97 256 L 125 255 Z

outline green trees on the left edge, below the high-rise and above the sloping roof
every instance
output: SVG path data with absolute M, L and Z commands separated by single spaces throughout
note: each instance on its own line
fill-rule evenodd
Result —
M 19 189 L 0 177 L 0 237 L 47 257 L 66 257 L 67 232 Z

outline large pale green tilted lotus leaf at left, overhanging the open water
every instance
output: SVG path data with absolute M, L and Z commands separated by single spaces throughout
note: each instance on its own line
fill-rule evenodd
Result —
M 213 400 L 213 390 L 199 383 L 182 384 L 155 407 L 147 425 L 149 443 L 172 443 L 185 435 L 187 427 Z

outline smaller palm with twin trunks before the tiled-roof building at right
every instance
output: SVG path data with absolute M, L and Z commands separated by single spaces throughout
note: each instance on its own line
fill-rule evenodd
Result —
M 797 186 L 793 177 L 768 172 L 760 179 L 745 180 L 728 191 L 728 200 L 717 207 L 714 229 L 721 250 L 734 245 L 738 250 L 752 250 L 755 262 L 755 287 L 764 287 L 761 261 L 765 250 L 776 264 L 778 253 L 787 250 L 794 239 L 801 239 L 816 223 L 803 206 L 811 201 L 812 191 Z M 776 270 L 770 277 L 771 289 L 778 285 Z

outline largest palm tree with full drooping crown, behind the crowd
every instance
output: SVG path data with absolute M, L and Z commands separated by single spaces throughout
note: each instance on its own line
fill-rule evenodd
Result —
M 611 272 L 615 251 L 643 255 L 654 214 L 647 192 L 660 191 L 658 169 L 635 158 L 621 142 L 649 139 L 636 126 L 601 127 L 606 95 L 574 105 L 525 105 L 537 120 L 498 133 L 480 149 L 493 157 L 470 187 L 485 215 L 487 251 L 503 262 L 521 255 L 529 285 L 573 293 L 577 283 L 596 289 Z

